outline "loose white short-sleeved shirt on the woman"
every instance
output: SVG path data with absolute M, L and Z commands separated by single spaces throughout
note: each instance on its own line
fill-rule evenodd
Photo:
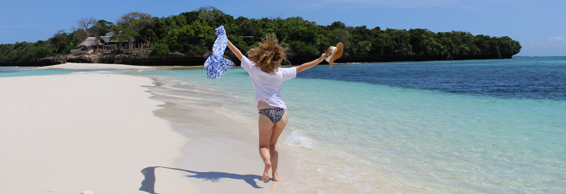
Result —
M 254 106 L 258 107 L 258 101 L 267 102 L 269 105 L 285 108 L 285 102 L 281 98 L 281 85 L 284 81 L 297 77 L 297 68 L 278 68 L 275 74 L 261 71 L 255 63 L 242 57 L 242 68 L 250 74 L 251 83 L 254 85 L 255 100 Z

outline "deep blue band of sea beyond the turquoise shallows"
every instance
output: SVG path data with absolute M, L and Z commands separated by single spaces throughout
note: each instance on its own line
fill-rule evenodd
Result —
M 566 99 L 566 58 L 388 62 L 313 69 L 299 77 L 524 99 Z

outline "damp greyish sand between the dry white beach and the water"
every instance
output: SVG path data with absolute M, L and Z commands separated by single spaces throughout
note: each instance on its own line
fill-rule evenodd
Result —
M 204 106 L 173 100 L 166 91 L 173 90 L 167 86 L 176 81 L 149 78 L 156 84 L 149 87 L 149 92 L 153 94 L 151 98 L 165 103 L 160 106 L 162 109 L 155 111 L 155 115 L 168 120 L 175 132 L 191 139 L 183 147 L 185 157 L 177 159 L 176 165 L 181 169 L 159 167 L 155 168 L 156 172 L 167 175 L 186 175 L 190 171 L 196 173 L 189 176 L 191 179 L 182 180 L 182 183 L 199 185 L 205 190 L 192 189 L 191 193 L 290 193 L 285 182 L 291 180 L 297 165 L 298 156 L 294 150 L 279 148 L 281 157 L 278 171 L 282 180 L 263 182 L 260 176 L 263 162 L 258 153 L 255 125 L 250 129 L 246 121 L 218 112 L 218 107 L 206 105 L 209 102 L 199 102 L 198 96 L 187 94 L 192 102 Z M 280 137 L 282 141 L 284 136 Z M 156 176 L 156 179 L 159 178 Z M 178 191 L 163 193 L 171 192 Z

